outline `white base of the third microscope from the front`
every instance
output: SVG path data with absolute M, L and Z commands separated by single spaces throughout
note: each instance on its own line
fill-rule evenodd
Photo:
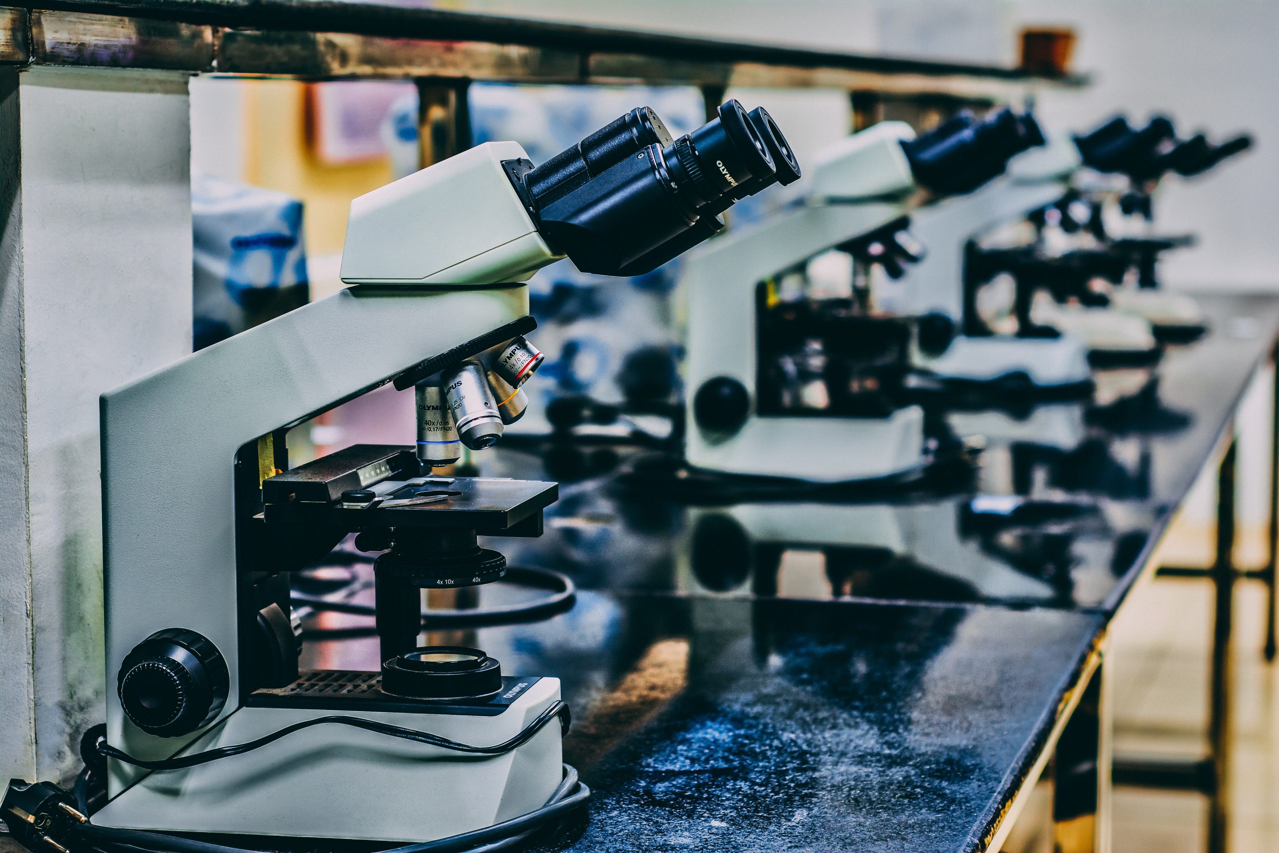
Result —
M 1092 391 L 1087 349 L 1069 336 L 961 335 L 941 356 L 921 359 L 920 366 L 943 382 L 959 385 L 1008 385 L 1009 390 L 1028 385 L 1060 396 Z

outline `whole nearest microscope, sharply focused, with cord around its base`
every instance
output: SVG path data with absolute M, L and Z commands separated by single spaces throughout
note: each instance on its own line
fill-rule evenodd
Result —
M 418 645 L 421 591 L 500 579 L 489 538 L 541 535 L 556 485 L 440 468 L 521 414 L 541 362 L 521 281 L 565 256 L 651 269 L 776 183 L 775 159 L 797 170 L 767 113 L 735 100 L 678 139 L 633 110 L 540 166 L 514 142 L 477 146 L 352 202 L 349 289 L 104 394 L 107 803 L 86 822 L 67 792 L 15 780 L 0 803 L 15 838 L 460 850 L 579 804 L 558 679 Z M 292 426 L 388 382 L 414 389 L 416 446 L 290 464 Z M 299 670 L 289 575 L 350 535 L 379 554 L 381 669 Z

